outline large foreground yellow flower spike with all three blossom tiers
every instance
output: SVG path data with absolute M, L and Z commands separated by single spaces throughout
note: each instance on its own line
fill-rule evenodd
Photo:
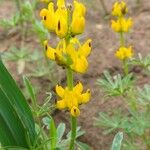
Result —
M 40 12 L 44 26 L 60 38 L 56 48 L 51 47 L 48 40 L 44 41 L 46 56 L 67 71 L 85 73 L 88 68 L 87 57 L 91 52 L 91 39 L 81 44 L 76 38 L 76 35 L 84 31 L 85 13 L 85 6 L 77 0 L 74 0 L 73 7 L 67 6 L 65 0 L 57 0 L 57 7 L 50 2 L 48 8 Z M 67 74 L 67 79 L 68 76 L 70 75 Z M 75 87 L 72 85 L 71 88 L 69 84 L 65 89 L 56 86 L 56 93 L 59 96 L 56 107 L 67 109 L 73 117 L 77 117 L 80 114 L 79 105 L 87 103 L 91 94 L 90 90 L 82 94 L 81 83 Z

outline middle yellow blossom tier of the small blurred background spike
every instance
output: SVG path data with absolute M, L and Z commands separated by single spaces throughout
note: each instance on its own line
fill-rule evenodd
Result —
M 119 18 L 117 21 L 111 21 L 111 27 L 115 32 L 129 32 L 130 28 L 133 25 L 131 18 Z

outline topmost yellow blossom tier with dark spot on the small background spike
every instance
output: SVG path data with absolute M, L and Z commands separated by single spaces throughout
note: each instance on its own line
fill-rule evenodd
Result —
M 121 17 L 128 12 L 128 8 L 125 2 L 115 2 L 113 5 L 112 15 Z

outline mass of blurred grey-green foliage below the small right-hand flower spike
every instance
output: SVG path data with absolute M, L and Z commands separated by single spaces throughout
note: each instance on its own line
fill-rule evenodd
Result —
M 136 65 L 149 71 L 150 56 L 132 59 L 128 65 Z M 103 89 L 107 97 L 122 96 L 125 100 L 126 109 L 121 108 L 111 111 L 111 113 L 99 113 L 95 125 L 105 128 L 104 133 L 109 134 L 114 131 L 122 130 L 126 139 L 122 144 L 123 150 L 137 150 L 142 146 L 150 148 L 150 85 L 145 84 L 143 88 L 137 87 L 132 74 L 121 77 L 120 74 L 111 76 L 104 72 L 104 78 L 98 80 L 98 84 Z M 141 141 L 139 146 L 137 140 Z

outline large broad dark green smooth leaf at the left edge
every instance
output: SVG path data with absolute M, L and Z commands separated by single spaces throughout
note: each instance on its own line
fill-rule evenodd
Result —
M 28 148 L 35 140 L 30 108 L 0 60 L 0 143 Z

